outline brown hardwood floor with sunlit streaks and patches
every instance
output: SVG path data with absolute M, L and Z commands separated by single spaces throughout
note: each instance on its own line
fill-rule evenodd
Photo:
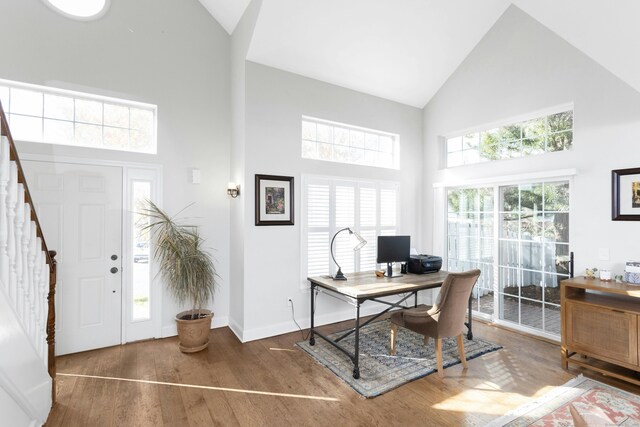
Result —
M 241 344 L 219 328 L 191 355 L 167 338 L 62 356 L 46 425 L 484 425 L 581 373 L 560 368 L 558 345 L 481 322 L 474 333 L 504 348 L 368 400 L 298 349 L 300 332 Z

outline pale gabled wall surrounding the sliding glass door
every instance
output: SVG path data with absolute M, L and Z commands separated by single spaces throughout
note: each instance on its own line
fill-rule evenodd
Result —
M 630 54 L 620 53 L 620 54 Z M 439 137 L 574 103 L 571 150 L 444 170 Z M 611 170 L 640 167 L 640 94 L 515 6 L 511 6 L 424 109 L 424 206 L 433 221 L 438 182 L 575 168 L 570 241 L 576 274 L 606 264 L 620 274 L 640 258 L 640 223 L 611 221 Z M 442 245 L 443 242 L 435 242 Z M 610 249 L 610 261 L 598 258 Z

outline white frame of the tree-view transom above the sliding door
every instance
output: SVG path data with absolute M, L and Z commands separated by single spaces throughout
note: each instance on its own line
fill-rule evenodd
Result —
M 464 147 L 462 147 L 462 150 L 458 151 L 452 151 L 452 152 L 460 152 L 461 155 L 463 156 L 462 159 L 462 163 L 459 164 L 455 164 L 455 165 L 450 165 L 449 164 L 449 141 L 458 137 L 464 138 L 464 136 L 466 135 L 470 135 L 470 134 L 475 134 L 475 133 L 479 133 L 481 134 L 484 131 L 488 131 L 491 129 L 495 129 L 495 128 L 500 128 L 500 127 L 504 127 L 504 126 L 510 126 L 510 125 L 516 125 L 519 124 L 521 122 L 525 122 L 525 121 L 529 121 L 529 120 L 533 120 L 533 119 L 539 119 L 539 118 L 543 118 L 543 117 L 547 117 L 547 116 L 551 116 L 553 114 L 558 114 L 558 113 L 562 113 L 565 111 L 571 111 L 573 113 L 573 117 L 574 117 L 574 126 L 571 128 L 571 131 L 575 130 L 575 112 L 574 112 L 574 107 L 573 107 L 573 103 L 567 103 L 567 104 L 561 104 L 561 105 L 556 105 L 553 107 L 549 107 L 546 109 L 542 109 L 542 110 L 537 110 L 534 112 L 530 112 L 527 114 L 523 114 L 523 115 L 519 115 L 519 116 L 513 116 L 507 119 L 503 119 L 500 121 L 496 121 L 496 122 L 490 122 L 490 123 L 485 123 L 481 126 L 474 126 L 471 128 L 467 128 L 467 129 L 463 129 L 463 130 L 458 130 L 455 132 L 451 132 L 448 134 L 445 134 L 442 136 L 441 138 L 441 147 L 442 147 L 442 159 L 443 159 L 443 164 L 446 165 L 447 168 L 452 168 L 452 167 L 461 167 L 461 166 L 467 166 L 467 165 L 473 165 L 473 164 L 479 164 L 479 163 L 488 163 L 488 162 L 495 162 L 495 161 L 500 161 L 500 160 L 507 160 L 510 159 L 512 157 L 500 157 L 498 159 L 485 159 L 485 158 L 478 158 L 477 161 L 465 161 L 464 159 L 464 152 L 465 151 L 473 151 L 473 150 L 464 150 Z M 546 135 L 546 134 L 545 134 Z M 575 139 L 575 135 L 573 136 L 573 138 Z M 521 135 L 521 139 L 522 141 L 522 135 Z M 479 141 L 481 142 L 481 141 Z M 571 146 L 573 146 L 573 139 L 571 142 Z M 569 147 L 568 149 L 570 149 L 571 147 Z M 561 151 L 567 151 L 568 149 L 565 150 L 561 150 Z M 478 150 L 476 150 L 478 151 Z M 551 151 L 547 150 L 547 147 L 545 145 L 545 149 L 543 152 L 541 153 L 533 153 L 533 154 L 527 154 L 527 153 L 523 153 L 522 152 L 522 147 L 521 147 L 521 151 L 520 151 L 520 155 L 516 156 L 516 158 L 521 158 L 521 157 L 529 157 L 529 156 L 536 156 L 536 155 L 541 155 L 541 154 L 548 154 L 551 153 Z M 478 151 L 479 154 L 479 151 Z

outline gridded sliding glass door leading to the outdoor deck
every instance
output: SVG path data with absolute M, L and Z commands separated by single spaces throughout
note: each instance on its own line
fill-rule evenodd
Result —
M 569 182 L 449 189 L 447 198 L 447 268 L 482 270 L 473 309 L 559 336 L 559 283 L 569 275 Z

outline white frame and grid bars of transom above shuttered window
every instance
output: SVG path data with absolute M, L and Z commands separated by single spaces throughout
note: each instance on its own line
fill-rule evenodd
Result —
M 347 131 L 349 133 L 349 141 L 348 141 L 349 145 L 336 144 L 333 136 L 332 136 L 332 141 L 330 142 L 319 141 L 317 137 L 317 133 L 315 138 L 305 138 L 304 131 L 302 130 L 304 128 L 304 122 L 314 123 L 315 125 L 328 126 L 331 128 L 331 135 L 335 134 L 336 129 Z M 396 170 L 400 169 L 400 135 L 398 134 L 385 132 L 381 130 L 364 128 L 360 126 L 354 126 L 346 123 L 334 122 L 334 121 L 325 120 L 325 119 L 319 119 L 319 118 L 310 117 L 310 116 L 302 116 L 302 119 L 300 121 L 300 127 L 301 127 L 300 156 L 302 159 L 320 160 L 320 161 L 335 162 L 335 163 L 346 163 L 346 164 L 352 164 L 352 165 L 369 166 L 369 167 L 377 167 L 377 168 L 384 168 L 384 169 L 396 169 Z M 364 145 L 362 147 L 357 147 L 353 145 L 351 132 L 358 132 L 363 134 Z M 391 152 L 389 153 L 388 151 L 383 151 L 380 148 L 380 145 L 378 145 L 378 149 L 367 148 L 366 142 L 364 142 L 367 136 L 378 138 L 378 139 L 379 138 L 390 139 Z M 315 154 L 313 156 L 309 156 L 305 154 L 307 151 L 305 149 L 305 143 L 309 143 L 311 145 L 316 146 L 316 148 L 314 149 Z M 332 155 L 330 159 L 323 158 L 321 156 L 317 148 L 318 144 L 326 144 L 331 146 L 330 148 L 331 148 Z M 343 150 L 350 150 L 350 152 L 352 150 L 362 150 L 362 159 L 360 161 L 352 161 L 351 159 L 340 160 L 336 158 L 336 156 L 334 156 L 334 152 L 338 147 L 340 147 Z M 366 159 L 367 157 L 366 154 L 374 155 L 374 157 L 376 157 L 377 160 L 368 161 Z M 388 158 L 389 156 L 391 156 L 391 162 L 386 163 L 384 159 Z

